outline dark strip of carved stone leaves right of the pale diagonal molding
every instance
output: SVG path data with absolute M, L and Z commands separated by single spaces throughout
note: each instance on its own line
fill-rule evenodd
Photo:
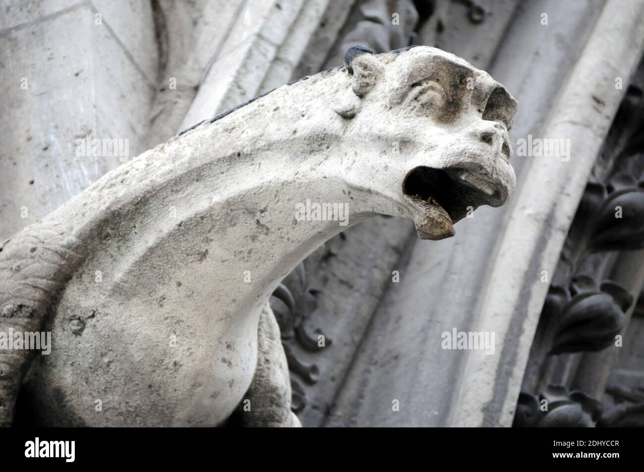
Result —
M 644 247 L 641 97 L 639 88 L 630 88 L 574 216 L 542 309 L 514 426 L 642 424 L 644 393 L 639 390 L 608 386 L 612 402 L 609 398 L 602 406 L 601 399 L 552 384 L 554 370 L 565 366 L 579 372 L 585 359 L 558 355 L 598 352 L 616 345 L 641 291 L 639 285 L 625 288 L 625 279 L 616 275 L 620 253 Z M 601 382 L 600 377 L 598 373 L 592 378 Z

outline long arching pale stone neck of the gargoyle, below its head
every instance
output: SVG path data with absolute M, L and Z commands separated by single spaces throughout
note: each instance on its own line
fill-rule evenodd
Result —
M 182 281 L 182 292 L 194 286 L 212 296 L 211 305 L 191 302 L 194 310 L 258 313 L 324 241 L 390 213 L 390 196 L 361 182 L 369 164 L 355 169 L 357 145 L 343 137 L 332 110 L 320 99 L 287 107 L 283 97 L 280 116 L 270 120 L 269 102 L 147 151 L 49 218 L 70 221 L 71 214 L 75 235 L 88 241 L 93 263 L 106 267 L 114 284 L 162 293 L 159 287 Z M 307 117 L 307 108 L 317 115 Z M 324 118 L 332 126 L 320 129 Z M 167 273 L 146 269 L 155 264 Z M 204 292 L 204 284 L 213 289 Z

